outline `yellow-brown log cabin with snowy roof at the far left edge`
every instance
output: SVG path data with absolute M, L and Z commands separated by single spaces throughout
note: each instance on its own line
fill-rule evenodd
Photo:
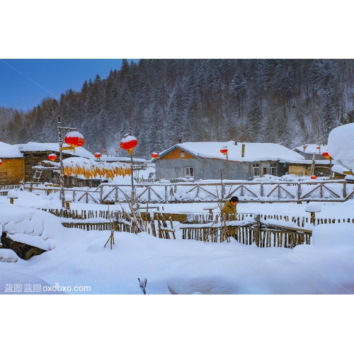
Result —
M 18 184 L 23 180 L 25 159 L 18 148 L 0 142 L 0 185 Z

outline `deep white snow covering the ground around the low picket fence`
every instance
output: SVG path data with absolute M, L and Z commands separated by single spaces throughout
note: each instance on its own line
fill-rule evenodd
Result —
M 323 218 L 353 219 L 354 200 L 316 204 L 321 205 Z M 59 193 L 55 193 L 50 204 L 28 191 L 18 191 L 18 199 L 13 205 L 5 196 L 0 197 L 3 231 L 13 241 L 47 250 L 29 261 L 16 257 L 13 252 L 12 258 L 17 261 L 6 262 L 6 257 L 11 258 L 11 250 L 0 249 L 0 291 L 3 294 L 35 293 L 30 286 L 25 287 L 33 285 L 30 277 L 66 287 L 64 292 L 71 294 L 139 295 L 142 290 L 137 278 L 147 278 L 148 295 L 354 292 L 352 222 L 317 225 L 313 229 L 312 244 L 295 249 L 258 249 L 255 245 L 246 246 L 234 240 L 222 244 L 183 240 L 178 222 L 173 225 L 176 240 L 158 239 L 147 232 L 115 232 L 115 244 L 110 249 L 109 245 L 104 247 L 110 237 L 109 231 L 67 229 L 62 226 L 62 219 L 34 209 L 43 205 L 60 208 Z M 156 206 L 160 210 L 164 208 L 164 212 L 205 213 L 204 207 L 217 204 Z M 120 210 L 120 205 L 72 203 L 72 209 Z M 240 213 L 290 217 L 308 217 L 306 209 L 307 205 L 296 203 L 238 205 Z M 22 290 L 15 290 L 15 284 L 22 285 Z M 75 287 L 79 290 L 73 291 Z

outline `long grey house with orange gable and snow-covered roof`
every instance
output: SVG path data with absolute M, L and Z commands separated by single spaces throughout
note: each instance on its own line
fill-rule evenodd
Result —
M 280 144 L 233 141 L 178 143 L 153 160 L 158 178 L 246 181 L 266 174 L 283 176 L 297 161 L 304 157 Z

